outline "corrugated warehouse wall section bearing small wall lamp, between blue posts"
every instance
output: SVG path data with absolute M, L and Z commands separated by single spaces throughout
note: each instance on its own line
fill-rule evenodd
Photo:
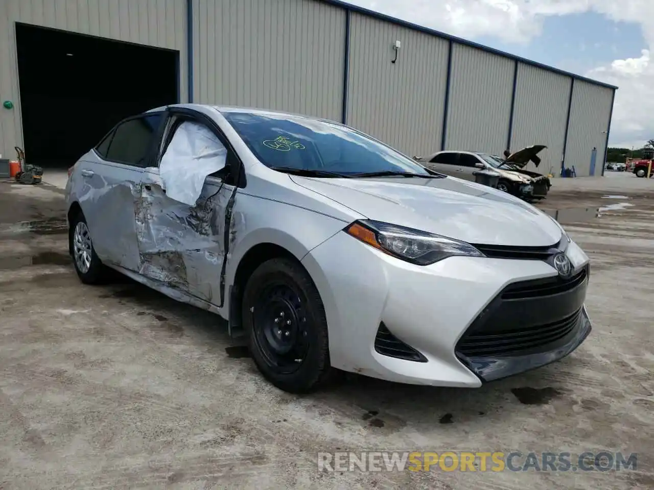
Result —
M 350 36 L 347 123 L 409 156 L 440 150 L 449 43 L 361 14 Z

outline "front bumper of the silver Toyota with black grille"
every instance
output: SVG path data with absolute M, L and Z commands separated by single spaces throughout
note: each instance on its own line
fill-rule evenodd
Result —
M 587 274 L 588 257 L 576 244 L 566 254 L 576 274 Z M 538 309 L 543 295 L 528 287 L 559 281 L 541 260 L 450 257 L 421 267 L 338 233 L 302 262 L 322 297 L 332 366 L 373 378 L 477 387 L 568 355 L 591 329 L 583 307 L 587 275 Z M 520 287 L 531 297 L 521 298 Z M 565 324 L 551 325 L 557 322 Z M 538 331 L 543 335 L 534 338 Z M 489 336 L 495 344 L 482 338 Z M 521 336 L 530 344 L 515 342 Z M 494 350 L 479 350 L 484 344 Z

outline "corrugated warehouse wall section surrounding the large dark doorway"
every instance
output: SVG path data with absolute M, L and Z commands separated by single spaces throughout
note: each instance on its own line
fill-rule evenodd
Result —
M 179 50 L 181 100 L 186 100 L 186 2 L 183 0 L 1 0 L 0 154 L 22 146 L 15 22 Z M 93 67 L 89 67 L 93 69 Z M 53 74 L 56 76 L 56 74 Z

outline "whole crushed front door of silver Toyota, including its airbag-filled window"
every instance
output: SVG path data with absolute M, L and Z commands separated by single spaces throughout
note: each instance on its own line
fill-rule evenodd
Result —
M 188 184 L 188 179 L 193 177 L 190 174 L 202 165 L 205 171 L 207 168 L 211 170 L 212 165 L 218 168 L 221 159 L 224 167 L 226 155 L 215 152 L 213 157 L 218 160 L 209 167 L 207 159 L 199 163 L 198 155 L 192 154 L 204 151 L 206 156 L 207 145 L 204 144 L 200 150 L 193 148 L 197 142 L 194 128 L 183 124 L 173 135 L 159 167 L 143 172 L 141 200 L 137 208 L 139 272 L 219 305 L 222 302 L 220 274 L 225 255 L 225 211 L 233 187 L 218 177 L 205 175 L 201 184 L 196 185 L 194 194 L 193 185 Z M 190 139 L 193 141 L 189 146 Z M 220 142 L 218 144 L 222 146 Z M 181 181 L 186 184 L 180 186 Z

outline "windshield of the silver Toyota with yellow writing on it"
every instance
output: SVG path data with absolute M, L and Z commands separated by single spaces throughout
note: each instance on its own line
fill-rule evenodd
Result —
M 379 172 L 431 176 L 409 157 L 337 123 L 287 114 L 222 114 L 250 151 L 273 169 L 315 172 L 325 177 Z

